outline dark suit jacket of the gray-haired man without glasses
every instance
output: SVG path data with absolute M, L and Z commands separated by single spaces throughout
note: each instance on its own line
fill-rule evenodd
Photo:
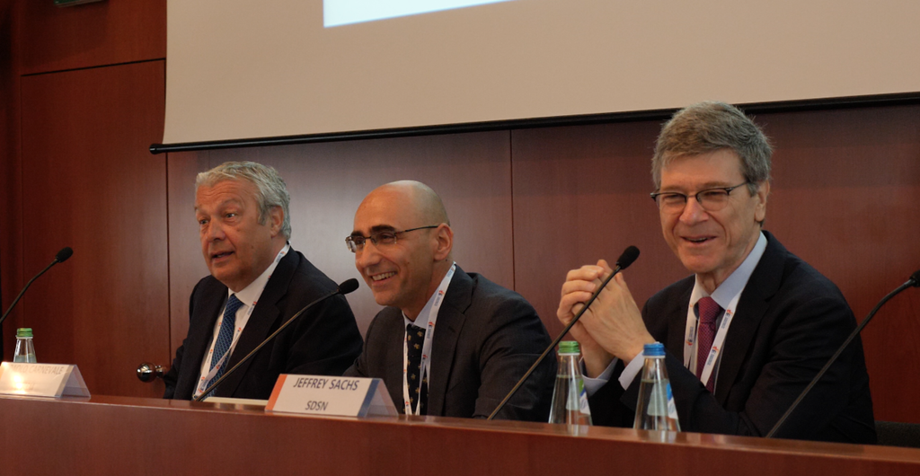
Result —
M 272 272 L 230 355 L 227 369 L 246 357 L 293 314 L 334 291 L 336 286 L 292 248 Z M 176 351 L 172 368 L 164 377 L 167 384 L 164 398 L 191 399 L 226 297 L 226 286 L 213 277 L 203 278 L 195 286 L 189 303 L 189 335 Z M 361 347 L 361 333 L 351 307 L 339 294 L 302 314 L 224 380 L 213 394 L 265 400 L 282 373 L 341 375 L 361 354 Z

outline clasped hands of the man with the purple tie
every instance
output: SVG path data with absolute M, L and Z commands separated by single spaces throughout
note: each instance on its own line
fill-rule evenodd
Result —
M 568 325 L 612 272 L 603 259 L 596 266 L 585 265 L 569 271 L 556 312 L 559 321 Z M 607 283 L 570 332 L 581 345 L 588 377 L 600 375 L 614 357 L 629 363 L 642 352 L 643 346 L 655 342 L 622 273 Z

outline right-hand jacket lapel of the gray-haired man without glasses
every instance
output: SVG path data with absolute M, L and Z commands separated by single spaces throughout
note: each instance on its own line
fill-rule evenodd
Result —
M 249 321 L 243 329 L 243 334 L 240 334 L 239 341 L 236 343 L 233 354 L 230 355 L 230 361 L 227 362 L 227 370 L 233 368 L 243 357 L 246 357 L 256 346 L 259 346 L 259 344 L 269 336 L 272 329 L 277 329 L 278 326 L 281 325 L 281 323 L 275 325 L 281 317 L 281 311 L 278 309 L 278 301 L 282 300 L 287 293 L 288 283 L 291 282 L 294 270 L 296 270 L 299 261 L 299 256 L 292 248 L 288 250 L 287 255 L 284 255 L 282 260 L 278 262 L 278 266 L 275 266 L 275 270 L 271 273 L 271 277 L 268 283 L 266 283 L 265 289 L 262 291 L 261 296 L 259 296 L 259 300 L 256 301 L 256 309 L 253 310 L 252 315 L 249 316 Z M 269 351 L 262 349 L 261 352 Z M 246 375 L 249 365 L 252 364 L 252 360 L 253 359 L 250 358 L 245 364 L 238 368 L 233 375 L 227 377 L 227 379 L 221 383 L 220 387 L 218 387 L 217 391 L 215 391 L 215 395 L 222 397 L 232 396 L 236 391 L 236 387 L 243 381 L 243 377 Z

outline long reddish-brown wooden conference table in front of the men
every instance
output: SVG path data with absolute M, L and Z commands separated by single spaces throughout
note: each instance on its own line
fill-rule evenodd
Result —
M 0 397 L 0 427 L 3 474 L 920 474 L 920 449 L 109 396 Z

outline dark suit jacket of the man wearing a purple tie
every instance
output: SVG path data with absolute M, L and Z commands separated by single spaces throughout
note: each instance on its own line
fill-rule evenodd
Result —
M 773 235 L 765 235 L 766 250 L 742 291 L 725 338 L 715 394 L 683 365 L 695 278 L 662 289 L 642 311 L 650 334 L 667 349 L 665 361 L 684 431 L 766 435 L 856 327 L 834 283 L 789 253 Z M 638 380 L 637 376 L 627 391 L 611 380 L 592 395 L 595 424 L 632 425 Z M 776 436 L 875 442 L 868 373 L 858 337 Z

